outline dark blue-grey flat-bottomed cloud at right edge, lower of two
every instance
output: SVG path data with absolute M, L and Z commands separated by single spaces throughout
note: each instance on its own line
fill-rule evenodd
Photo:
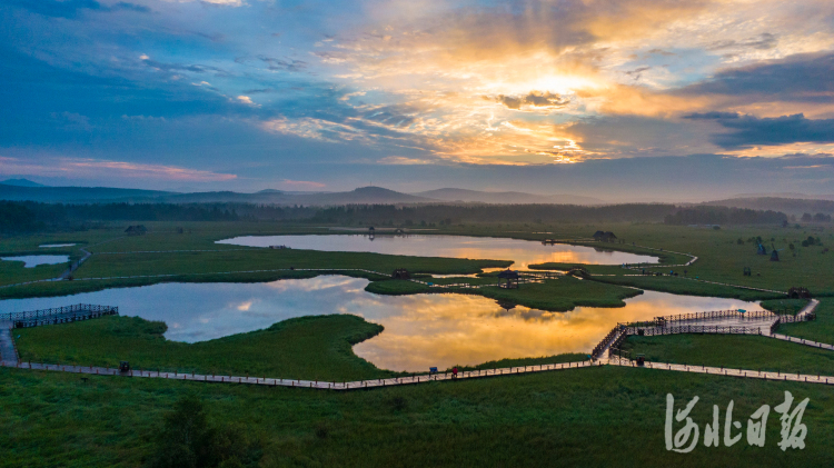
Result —
M 802 113 L 759 119 L 729 112 L 707 112 L 691 114 L 687 118 L 714 119 L 729 130 L 712 136 L 712 141 L 725 149 L 749 148 L 758 145 L 834 142 L 834 119 L 811 120 Z

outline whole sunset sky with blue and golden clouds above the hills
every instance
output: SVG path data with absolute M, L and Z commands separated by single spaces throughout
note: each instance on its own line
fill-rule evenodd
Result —
M 0 177 L 834 193 L 830 0 L 6 0 Z

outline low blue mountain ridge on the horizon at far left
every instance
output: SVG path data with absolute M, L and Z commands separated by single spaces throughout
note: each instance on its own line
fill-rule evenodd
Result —
M 47 203 L 96 203 L 111 201 L 159 201 L 171 192 L 108 187 L 21 187 L 0 183 L 0 200 L 31 200 Z

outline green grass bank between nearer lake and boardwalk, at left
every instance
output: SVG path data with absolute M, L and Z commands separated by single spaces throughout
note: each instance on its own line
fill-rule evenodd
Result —
M 383 331 L 356 316 L 299 317 L 267 329 L 209 341 L 169 341 L 163 322 L 103 317 L 16 330 L 24 361 L 179 372 L 346 380 L 389 377 L 354 355 L 351 346 Z

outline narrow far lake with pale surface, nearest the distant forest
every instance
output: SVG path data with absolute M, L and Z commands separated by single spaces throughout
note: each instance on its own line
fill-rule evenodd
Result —
M 421 257 L 451 257 L 490 260 L 514 260 L 514 268 L 526 269 L 530 263 L 556 261 L 563 263 L 620 265 L 657 262 L 657 257 L 606 251 L 602 248 L 556 243 L 543 246 L 532 240 L 467 236 L 241 236 L 219 240 L 247 247 L 287 246 L 294 249 L 324 251 L 375 252 Z

